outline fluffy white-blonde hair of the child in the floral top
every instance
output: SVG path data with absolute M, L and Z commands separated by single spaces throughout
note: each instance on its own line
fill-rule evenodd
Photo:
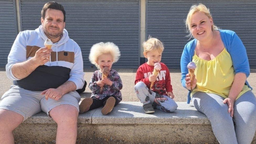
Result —
M 113 57 L 113 63 L 117 62 L 121 55 L 118 46 L 113 42 L 99 42 L 94 44 L 90 50 L 89 60 L 98 69 L 99 65 L 96 62 L 98 61 L 98 57 L 103 54 L 110 54 Z

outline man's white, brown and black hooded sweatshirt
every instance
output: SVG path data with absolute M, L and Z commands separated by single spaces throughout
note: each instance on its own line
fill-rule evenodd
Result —
M 74 82 L 76 89 L 81 89 L 84 85 L 82 53 L 78 44 L 69 38 L 66 29 L 62 38 L 52 45 L 51 62 L 37 67 L 26 78 L 18 79 L 13 75 L 12 66 L 34 57 L 38 49 L 45 47 L 46 39 L 42 25 L 36 30 L 20 32 L 8 56 L 7 77 L 13 80 L 14 85 L 31 91 L 57 88 L 66 81 Z

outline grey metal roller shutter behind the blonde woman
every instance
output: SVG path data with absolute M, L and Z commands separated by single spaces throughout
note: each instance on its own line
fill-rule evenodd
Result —
M 180 68 L 180 57 L 188 37 L 185 19 L 192 4 L 210 9 L 215 25 L 233 30 L 246 47 L 250 68 L 256 68 L 256 1 L 156 1 L 147 3 L 147 36 L 159 38 L 165 46 L 162 62 Z

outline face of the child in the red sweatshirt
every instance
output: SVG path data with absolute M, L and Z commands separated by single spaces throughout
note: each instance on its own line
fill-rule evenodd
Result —
M 162 58 L 162 52 L 160 53 L 158 50 L 151 50 L 143 52 L 144 56 L 148 59 L 147 64 L 150 66 L 154 66 L 155 63 L 160 62 Z

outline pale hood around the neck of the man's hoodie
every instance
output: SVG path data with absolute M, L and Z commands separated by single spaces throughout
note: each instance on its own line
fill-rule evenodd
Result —
M 43 25 L 40 25 L 37 29 L 35 29 L 36 33 L 38 33 L 38 35 L 45 41 L 47 38 L 47 36 L 44 33 L 44 29 L 43 29 Z M 62 44 L 64 44 L 65 42 L 67 42 L 69 40 L 69 36 L 68 36 L 68 32 L 66 29 L 63 29 L 63 35 L 61 37 L 61 39 L 54 43 L 54 46 L 60 46 Z

